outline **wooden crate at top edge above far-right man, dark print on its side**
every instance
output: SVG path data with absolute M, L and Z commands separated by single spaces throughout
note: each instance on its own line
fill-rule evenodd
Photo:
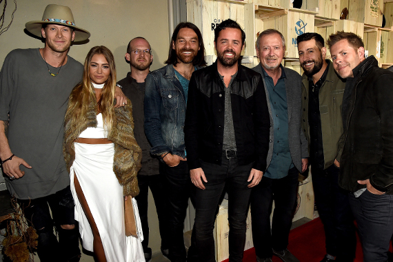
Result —
M 382 26 L 383 0 L 349 0 L 348 10 L 349 20 L 368 26 Z

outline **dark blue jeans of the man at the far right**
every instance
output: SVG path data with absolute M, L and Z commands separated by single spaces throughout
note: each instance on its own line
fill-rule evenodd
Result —
M 365 190 L 350 206 L 358 225 L 364 262 L 385 262 L 393 234 L 393 195 L 372 194 Z

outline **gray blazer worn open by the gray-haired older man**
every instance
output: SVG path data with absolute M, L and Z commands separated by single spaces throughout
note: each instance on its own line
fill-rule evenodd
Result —
M 263 77 L 263 71 L 260 63 L 252 69 L 259 72 L 259 74 Z M 290 144 L 290 153 L 295 167 L 301 171 L 301 159 L 308 157 L 308 142 L 305 139 L 303 130 L 301 129 L 301 75 L 289 68 L 284 68 L 284 72 L 286 76 L 285 90 L 287 93 L 288 103 L 288 141 Z M 268 88 L 266 87 L 264 80 L 263 85 L 265 86 L 266 99 L 268 99 L 270 123 L 272 125 L 272 128 L 270 128 L 269 153 L 266 160 L 268 168 L 273 155 L 274 123 L 272 110 L 270 108 Z

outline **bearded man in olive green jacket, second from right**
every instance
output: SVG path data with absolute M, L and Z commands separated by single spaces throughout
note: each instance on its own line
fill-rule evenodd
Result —
M 345 81 L 334 72 L 333 63 L 325 59 L 325 41 L 320 34 L 301 34 L 297 43 L 304 70 L 302 126 L 310 145 L 316 208 L 325 230 L 326 254 L 321 262 L 353 261 L 354 218 L 347 191 L 339 187 Z

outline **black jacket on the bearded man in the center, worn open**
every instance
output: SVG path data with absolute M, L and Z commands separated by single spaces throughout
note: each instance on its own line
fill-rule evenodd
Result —
M 266 169 L 270 119 L 261 74 L 239 66 L 232 82 L 231 102 L 239 165 L 254 162 Z M 190 169 L 200 168 L 199 159 L 221 165 L 225 94 L 217 65 L 192 74 L 185 114 L 185 149 Z

